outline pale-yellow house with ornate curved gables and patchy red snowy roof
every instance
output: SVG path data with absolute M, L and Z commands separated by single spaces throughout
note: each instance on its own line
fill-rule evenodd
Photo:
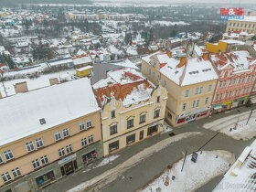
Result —
M 163 130 L 167 92 L 135 69 L 115 69 L 93 85 L 101 106 L 104 156 Z

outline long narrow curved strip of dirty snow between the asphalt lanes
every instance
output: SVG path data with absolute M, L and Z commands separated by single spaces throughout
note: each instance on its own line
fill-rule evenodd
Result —
M 189 132 L 189 133 L 181 133 L 174 137 L 167 138 L 157 144 L 154 144 L 150 147 L 145 148 L 140 153 L 133 155 L 131 158 L 124 161 L 122 164 L 113 167 L 112 169 L 102 173 L 100 176 L 95 176 L 89 181 L 85 181 L 81 183 L 77 187 L 73 187 L 68 190 L 68 192 L 78 192 L 78 191 L 89 191 L 89 187 L 91 187 L 91 191 L 99 191 L 101 187 L 104 187 L 114 181 L 118 176 L 122 176 L 122 174 L 131 168 L 134 165 L 139 164 L 145 158 L 154 155 L 156 152 L 164 149 L 169 144 L 175 143 L 187 137 L 202 135 L 200 132 Z

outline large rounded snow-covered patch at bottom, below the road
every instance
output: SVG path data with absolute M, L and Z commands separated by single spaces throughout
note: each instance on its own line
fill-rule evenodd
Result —
M 216 156 L 218 155 L 218 158 Z M 197 153 L 197 163 L 191 161 L 192 155 L 187 155 L 183 171 L 181 168 L 184 158 L 179 160 L 171 169 L 156 178 L 143 189 L 144 192 L 194 191 L 208 183 L 215 176 L 224 174 L 229 164 L 235 162 L 235 156 L 227 151 L 203 151 Z M 175 179 L 172 180 L 172 177 Z

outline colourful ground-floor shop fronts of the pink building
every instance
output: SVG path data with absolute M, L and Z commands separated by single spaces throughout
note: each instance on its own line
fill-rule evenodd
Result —
M 224 112 L 236 107 L 240 107 L 245 105 L 249 100 L 250 100 L 250 97 L 243 97 L 236 100 L 220 102 L 218 104 L 212 105 L 212 112 L 213 113 Z

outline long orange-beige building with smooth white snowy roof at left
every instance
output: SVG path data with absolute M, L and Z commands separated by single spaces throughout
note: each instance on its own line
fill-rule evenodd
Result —
M 18 93 L 0 108 L 0 191 L 37 191 L 102 156 L 88 79 Z

